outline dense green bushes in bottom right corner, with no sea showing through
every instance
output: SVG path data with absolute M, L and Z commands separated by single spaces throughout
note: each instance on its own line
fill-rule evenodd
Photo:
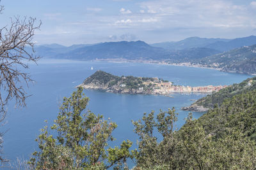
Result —
M 255 142 L 244 138 L 241 131 L 228 129 L 222 138 L 207 134 L 197 120 L 188 120 L 179 131 L 185 169 L 255 169 Z

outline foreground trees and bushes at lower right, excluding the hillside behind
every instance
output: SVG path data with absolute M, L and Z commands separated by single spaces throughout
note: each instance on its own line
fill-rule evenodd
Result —
M 216 138 L 189 114 L 186 124 L 174 131 L 176 115 L 173 109 L 160 111 L 155 118 L 152 111 L 133 122 L 140 137 L 138 150 L 134 150 L 136 169 L 255 169 L 256 143 L 239 127 L 228 127 Z M 154 129 L 161 134 L 159 142 Z

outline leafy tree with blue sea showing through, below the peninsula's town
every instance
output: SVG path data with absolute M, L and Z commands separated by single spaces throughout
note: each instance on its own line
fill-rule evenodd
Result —
M 144 113 L 141 120 L 132 122 L 134 132 L 140 137 L 138 150 L 134 150 L 139 169 L 175 169 L 174 157 L 178 143 L 175 138 L 176 121 L 177 113 L 172 108 L 168 111 L 160 110 L 156 118 L 154 111 L 148 115 Z M 158 142 L 157 137 L 162 140 Z

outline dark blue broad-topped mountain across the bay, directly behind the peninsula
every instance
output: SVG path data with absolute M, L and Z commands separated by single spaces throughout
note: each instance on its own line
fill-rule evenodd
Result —
M 93 60 L 93 59 L 129 59 L 158 60 L 166 59 L 168 50 L 153 47 L 143 41 L 120 41 L 83 46 L 67 53 L 56 55 L 56 58 Z

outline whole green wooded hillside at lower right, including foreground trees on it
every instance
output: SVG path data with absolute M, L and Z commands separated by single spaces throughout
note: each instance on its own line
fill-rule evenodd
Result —
M 138 169 L 255 169 L 256 90 L 228 97 L 198 120 L 190 114 L 179 131 L 176 114 L 152 112 L 134 122 Z

